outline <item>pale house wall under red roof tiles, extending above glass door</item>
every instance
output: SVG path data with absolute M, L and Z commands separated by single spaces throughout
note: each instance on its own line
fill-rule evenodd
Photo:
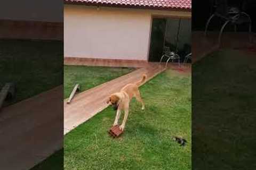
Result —
M 147 60 L 151 16 L 189 12 L 65 5 L 65 57 Z

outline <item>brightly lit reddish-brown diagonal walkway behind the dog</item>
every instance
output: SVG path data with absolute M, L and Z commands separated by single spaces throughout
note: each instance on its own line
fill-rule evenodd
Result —
M 164 70 L 164 67 L 158 63 L 148 63 L 143 68 L 76 95 L 70 104 L 65 100 L 64 134 L 105 109 L 108 106 L 106 100 L 111 94 L 121 90 L 128 83 L 139 81 L 143 73 L 147 74 L 148 81 Z

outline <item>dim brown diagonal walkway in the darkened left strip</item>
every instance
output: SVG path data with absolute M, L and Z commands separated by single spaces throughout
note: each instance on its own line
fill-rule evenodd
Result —
M 61 86 L 2 108 L 1 169 L 30 169 L 63 147 L 62 94 Z

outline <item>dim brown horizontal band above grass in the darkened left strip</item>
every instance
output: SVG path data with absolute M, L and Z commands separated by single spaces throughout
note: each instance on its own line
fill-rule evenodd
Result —
M 0 20 L 0 38 L 63 40 L 63 22 Z

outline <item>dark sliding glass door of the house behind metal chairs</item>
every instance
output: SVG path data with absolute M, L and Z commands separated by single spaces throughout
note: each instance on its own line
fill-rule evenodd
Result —
M 154 18 L 151 30 L 150 62 L 159 62 L 164 47 L 180 55 L 181 61 L 191 53 L 191 20 Z

